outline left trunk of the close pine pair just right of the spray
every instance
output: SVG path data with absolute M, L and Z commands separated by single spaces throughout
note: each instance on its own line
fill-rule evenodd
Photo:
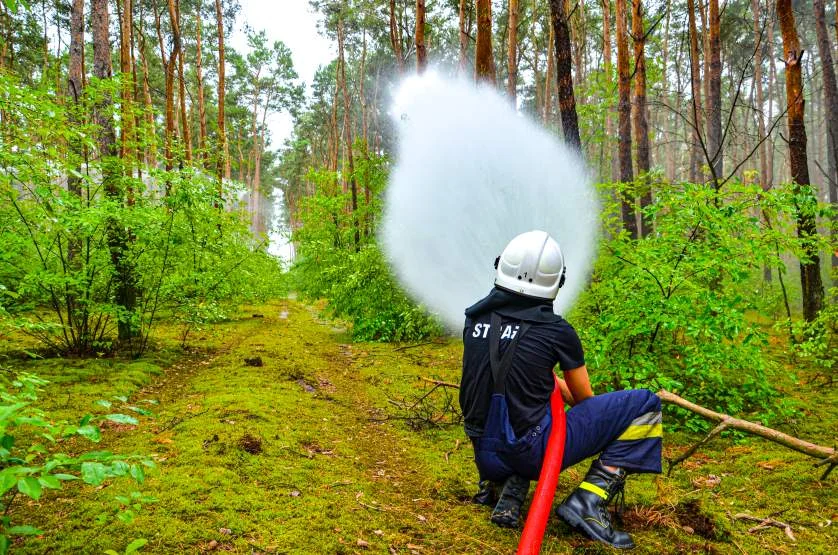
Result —
M 614 6 L 617 25 L 617 89 L 620 96 L 617 111 L 620 116 L 618 128 L 620 158 L 620 181 L 630 184 L 634 181 L 631 164 L 631 76 L 629 75 L 628 28 L 626 25 L 626 0 L 617 0 Z M 637 239 L 634 195 L 623 193 L 621 206 L 623 227 L 632 239 Z

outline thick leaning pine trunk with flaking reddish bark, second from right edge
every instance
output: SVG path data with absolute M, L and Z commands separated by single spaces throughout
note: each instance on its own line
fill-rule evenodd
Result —
M 777 17 L 783 36 L 783 58 L 786 64 L 786 100 L 789 122 L 789 165 L 794 183 L 797 212 L 797 235 L 805 241 L 807 260 L 800 262 L 800 284 L 803 290 L 803 317 L 814 320 L 823 306 L 820 257 L 813 244 L 818 229 L 815 221 L 817 198 L 809 183 L 806 157 L 806 127 L 803 122 L 804 98 L 801 62 L 803 51 L 797 38 L 791 0 L 777 0 Z

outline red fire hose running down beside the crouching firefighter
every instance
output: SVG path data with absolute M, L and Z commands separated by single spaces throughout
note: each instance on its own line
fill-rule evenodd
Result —
M 547 519 L 550 518 L 550 509 L 553 507 L 553 497 L 556 495 L 556 485 L 559 483 L 559 473 L 562 470 L 565 414 L 558 377 L 556 377 L 556 388 L 550 397 L 550 410 L 553 415 L 553 424 L 550 428 L 550 437 L 547 439 L 547 452 L 544 453 L 538 486 L 535 488 L 527 522 L 524 524 L 524 532 L 518 543 L 518 555 L 538 555 L 541 551 L 541 541 L 544 539 L 544 530 L 547 528 Z

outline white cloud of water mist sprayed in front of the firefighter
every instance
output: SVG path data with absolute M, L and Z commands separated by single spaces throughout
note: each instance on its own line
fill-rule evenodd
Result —
M 515 235 L 550 233 L 567 311 L 585 286 L 598 204 L 580 158 L 494 89 L 427 72 L 406 79 L 391 111 L 398 158 L 381 241 L 405 288 L 452 329 L 493 285 L 493 262 Z

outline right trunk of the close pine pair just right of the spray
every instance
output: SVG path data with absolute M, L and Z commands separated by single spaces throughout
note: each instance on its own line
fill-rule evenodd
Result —
M 640 0 L 632 0 L 631 32 L 634 35 L 634 142 L 637 145 L 637 174 L 641 180 L 640 208 L 652 203 L 649 180 L 649 122 L 646 120 L 646 37 L 643 31 L 643 6 Z M 652 225 L 648 217 L 640 213 L 640 235 L 648 236 Z

